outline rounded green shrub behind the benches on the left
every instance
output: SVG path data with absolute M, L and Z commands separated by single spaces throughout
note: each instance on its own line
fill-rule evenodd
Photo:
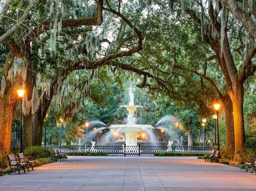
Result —
M 54 156 L 51 149 L 43 146 L 31 146 L 30 148 L 26 148 L 23 153 L 24 156 L 31 156 L 33 159 L 49 158 Z

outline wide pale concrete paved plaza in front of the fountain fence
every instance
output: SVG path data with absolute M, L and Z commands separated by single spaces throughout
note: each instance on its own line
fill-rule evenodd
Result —
M 69 156 L 21 175 L 0 176 L 3 190 L 256 191 L 256 175 L 196 157 Z

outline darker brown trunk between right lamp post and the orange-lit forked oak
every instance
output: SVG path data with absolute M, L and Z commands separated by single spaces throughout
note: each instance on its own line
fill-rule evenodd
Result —
M 233 117 L 233 103 L 230 96 L 226 94 L 225 107 L 225 121 L 226 121 L 226 146 L 231 147 L 231 152 L 235 154 L 235 132 L 234 132 L 234 117 Z

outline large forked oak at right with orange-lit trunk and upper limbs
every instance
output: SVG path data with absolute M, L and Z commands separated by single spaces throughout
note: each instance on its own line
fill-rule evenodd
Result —
M 235 1 L 229 1 L 229 3 L 231 2 Z M 156 3 L 161 6 L 168 4 L 162 1 L 156 1 Z M 183 20 L 188 17 L 193 19 L 200 27 L 202 39 L 209 44 L 214 51 L 215 58 L 213 59 L 218 61 L 225 77 L 226 94 L 222 95 L 214 83 L 212 83 L 212 85 L 218 92 L 225 108 L 233 104 L 235 151 L 243 151 L 245 143 L 243 84 L 245 80 L 255 72 L 253 57 L 256 48 L 254 39 L 251 38 L 253 32 L 250 31 L 248 25 L 245 26 L 244 21 L 241 21 L 242 24 L 239 22 L 239 18 L 236 16 L 235 11 L 232 12 L 233 8 L 234 10 L 238 10 L 238 8 L 241 9 L 242 3 L 236 2 L 236 5 L 228 4 L 227 2 L 223 3 L 228 7 L 226 8 L 222 5 L 221 1 L 191 1 L 188 3 L 186 1 L 180 2 L 174 0 L 169 2 L 169 10 L 170 12 L 174 11 L 175 13 L 177 10 L 180 10 L 181 15 L 184 16 Z M 181 7 L 181 9 L 176 9 L 175 6 Z M 167 8 L 167 6 L 164 7 L 165 9 Z M 246 12 L 248 13 L 247 8 L 248 7 L 246 6 Z M 229 13 L 229 10 L 232 14 Z M 251 11 L 253 10 L 254 8 Z M 235 15 L 238 20 L 236 20 L 233 15 Z M 205 59 L 206 61 L 208 60 L 208 58 Z M 181 68 L 178 64 L 176 64 L 176 67 Z M 205 72 L 206 70 L 199 75 L 210 81 L 210 79 L 207 79 Z M 232 103 L 229 101 L 230 99 L 232 100 Z M 232 115 L 231 109 L 226 111 L 226 116 L 227 115 Z M 227 138 L 232 138 L 231 120 L 230 125 L 227 125 L 227 127 L 230 127 L 227 129 L 227 133 L 231 133 Z M 232 140 L 230 141 L 230 143 L 232 143 Z

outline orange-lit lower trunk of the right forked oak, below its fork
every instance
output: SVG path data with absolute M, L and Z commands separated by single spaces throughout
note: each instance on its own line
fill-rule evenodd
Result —
M 245 130 L 244 130 L 244 88 L 243 83 L 237 83 L 232 95 L 234 111 L 235 152 L 244 152 Z

